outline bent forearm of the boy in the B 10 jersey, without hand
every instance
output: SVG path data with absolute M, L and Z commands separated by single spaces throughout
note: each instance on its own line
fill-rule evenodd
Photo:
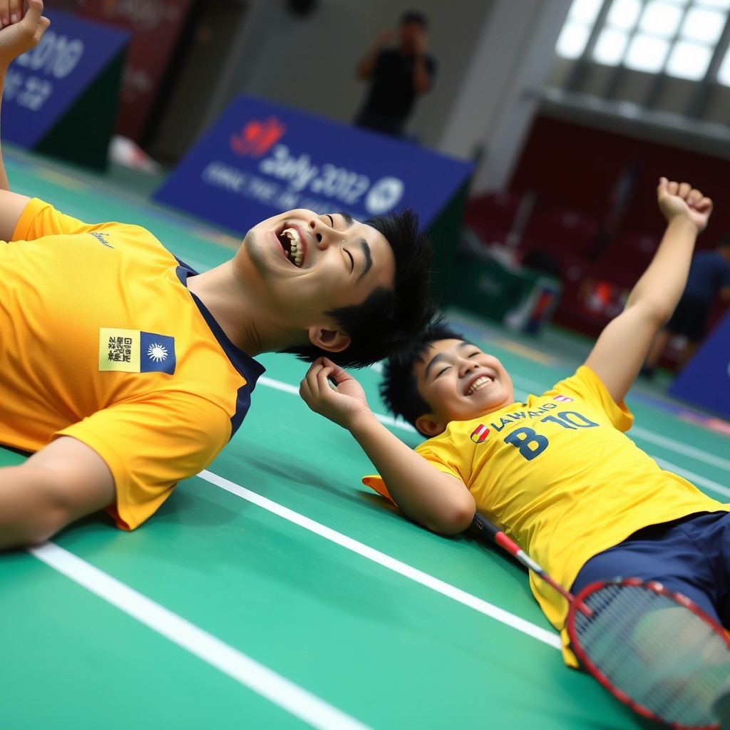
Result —
M 372 414 L 358 418 L 350 433 L 405 515 L 440 534 L 469 527 L 476 506 L 464 483 L 429 464 Z

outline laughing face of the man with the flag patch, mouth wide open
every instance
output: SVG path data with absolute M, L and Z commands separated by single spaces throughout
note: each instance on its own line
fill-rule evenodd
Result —
M 347 213 L 290 210 L 258 223 L 236 257 L 247 285 L 293 328 L 309 328 L 337 307 L 393 287 L 388 241 Z

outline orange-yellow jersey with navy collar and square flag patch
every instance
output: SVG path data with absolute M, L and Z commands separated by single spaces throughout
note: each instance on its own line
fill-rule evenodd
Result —
M 0 242 L 0 271 L 0 443 L 84 442 L 114 475 L 108 511 L 134 529 L 226 445 L 264 368 L 145 228 L 34 199 Z

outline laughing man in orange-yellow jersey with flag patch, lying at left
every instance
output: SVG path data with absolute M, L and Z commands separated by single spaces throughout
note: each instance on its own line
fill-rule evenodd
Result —
M 15 22 L 7 3 L 0 82 L 48 25 L 41 0 Z M 0 444 L 34 452 L 0 469 L 0 548 L 98 510 L 137 527 L 236 431 L 264 372 L 252 356 L 363 366 L 433 313 L 410 212 L 291 210 L 196 274 L 144 228 L 9 192 L 1 163 L 0 188 Z

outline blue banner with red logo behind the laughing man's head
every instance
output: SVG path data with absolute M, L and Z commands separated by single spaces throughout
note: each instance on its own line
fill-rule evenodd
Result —
M 418 145 L 242 95 L 154 197 L 235 231 L 293 208 L 364 220 L 412 207 L 427 226 L 471 172 Z

